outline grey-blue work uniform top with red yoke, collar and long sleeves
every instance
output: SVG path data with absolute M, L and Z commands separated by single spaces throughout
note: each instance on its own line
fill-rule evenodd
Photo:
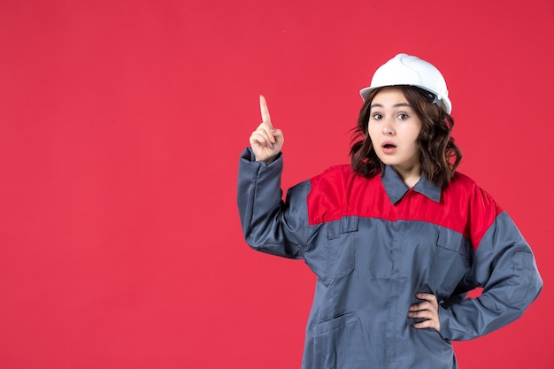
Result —
M 367 179 L 337 165 L 282 201 L 281 171 L 281 155 L 265 165 L 245 150 L 238 205 L 252 248 L 304 258 L 317 276 L 304 369 L 457 368 L 452 340 L 518 319 L 542 288 L 512 219 L 461 173 L 408 188 L 389 166 Z M 440 334 L 412 327 L 418 292 L 437 296 Z

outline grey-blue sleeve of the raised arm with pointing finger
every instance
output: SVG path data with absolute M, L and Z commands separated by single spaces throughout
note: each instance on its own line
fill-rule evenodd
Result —
M 270 165 L 253 160 L 250 148 L 239 161 L 237 203 L 246 242 L 255 250 L 303 258 L 308 234 L 306 196 L 310 182 L 290 188 L 282 201 L 280 154 Z

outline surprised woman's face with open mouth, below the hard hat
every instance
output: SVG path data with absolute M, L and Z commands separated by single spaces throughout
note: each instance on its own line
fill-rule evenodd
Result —
M 402 90 L 383 88 L 371 103 L 367 130 L 377 156 L 400 172 L 420 172 L 421 120 Z

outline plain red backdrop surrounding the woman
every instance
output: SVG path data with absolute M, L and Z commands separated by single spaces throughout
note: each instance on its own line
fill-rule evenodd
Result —
M 299 367 L 314 277 L 254 252 L 238 155 L 267 97 L 283 187 L 348 161 L 397 52 L 445 75 L 464 152 L 535 250 L 522 319 L 461 367 L 552 368 L 554 3 L 0 3 L 0 366 Z

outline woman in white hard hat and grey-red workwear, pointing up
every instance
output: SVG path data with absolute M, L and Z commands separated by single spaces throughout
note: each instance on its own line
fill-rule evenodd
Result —
M 260 96 L 262 123 L 239 165 L 245 239 L 317 275 L 303 368 L 457 368 L 451 341 L 503 327 L 538 296 L 535 258 L 508 214 L 456 172 L 434 65 L 398 54 L 360 94 L 351 165 L 290 188 L 285 202 L 284 138 Z

